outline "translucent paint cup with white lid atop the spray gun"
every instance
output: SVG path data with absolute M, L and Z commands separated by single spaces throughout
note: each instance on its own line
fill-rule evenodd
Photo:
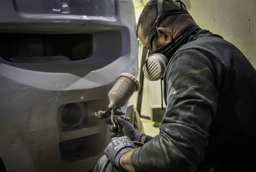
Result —
M 139 81 L 129 73 L 122 73 L 112 89 L 108 92 L 108 99 L 110 101 L 108 107 L 113 109 L 115 107 L 124 106 L 132 94 L 140 88 Z

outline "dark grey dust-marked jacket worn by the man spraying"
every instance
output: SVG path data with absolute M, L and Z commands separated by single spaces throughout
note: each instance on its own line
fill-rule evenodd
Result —
M 234 45 L 206 30 L 166 56 L 166 113 L 159 135 L 132 154 L 135 170 L 250 171 L 255 69 Z

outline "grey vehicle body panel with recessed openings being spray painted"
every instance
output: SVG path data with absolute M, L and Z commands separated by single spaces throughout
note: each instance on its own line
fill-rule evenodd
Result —
M 115 9 L 88 15 L 73 13 L 75 6 L 70 13 L 36 14 L 29 5 L 21 8 L 21 2 L 0 2 L 1 33 L 86 33 L 92 36 L 92 50 L 77 61 L 13 63 L 0 58 L 0 156 L 8 172 L 92 170 L 110 141 L 109 126 L 94 112 L 106 109 L 107 93 L 120 73 L 138 73 L 133 3 L 112 0 L 105 5 Z M 80 114 L 72 125 L 63 122 L 69 110 Z

